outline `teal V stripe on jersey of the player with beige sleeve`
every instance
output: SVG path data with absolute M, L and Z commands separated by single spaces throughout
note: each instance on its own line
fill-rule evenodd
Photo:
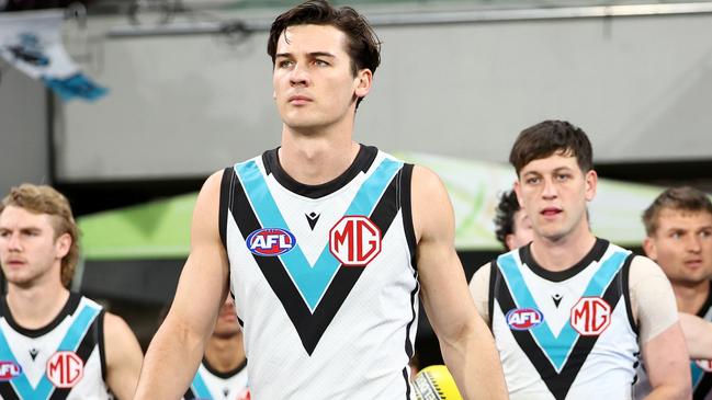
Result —
M 608 258 L 591 277 L 591 281 L 584 290 L 583 297 L 601 297 L 623 265 L 626 256 L 628 253 L 619 251 Z M 510 288 L 517 307 L 540 309 L 524 282 L 524 277 L 517 265 L 517 260 L 515 260 L 513 254 L 507 253 L 499 256 L 497 263 L 499 264 L 502 276 L 507 281 L 507 286 Z M 543 323 L 529 331 L 539 347 L 546 354 L 554 369 L 561 373 L 574 348 L 574 344 L 578 340 L 578 332 L 569 323 L 566 323 L 558 335 L 555 335 L 549 327 L 545 317 Z

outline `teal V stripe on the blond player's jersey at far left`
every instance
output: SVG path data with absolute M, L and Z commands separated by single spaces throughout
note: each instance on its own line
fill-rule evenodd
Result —
M 84 336 L 84 334 L 89 330 L 89 327 L 91 327 L 91 323 L 94 321 L 94 319 L 100 312 L 101 309 L 84 305 L 81 311 L 79 311 L 77 318 L 75 318 L 71 325 L 67 330 L 65 338 L 59 343 L 59 346 L 57 347 L 57 352 L 61 352 L 61 351 L 76 352 L 77 347 L 79 346 L 79 343 L 81 342 L 81 339 Z M 2 334 L 1 331 L 0 331 L 0 358 L 5 361 L 11 361 L 18 364 L 18 359 L 15 358 L 14 354 L 12 354 L 8 340 L 5 339 L 4 334 Z M 14 387 L 15 391 L 20 395 L 20 398 L 22 399 L 44 400 L 49 397 L 53 389 L 55 388 L 46 375 L 42 376 L 42 379 L 39 379 L 39 382 L 37 382 L 36 387 L 32 387 L 30 380 L 24 374 L 13 378 L 11 380 L 11 384 Z

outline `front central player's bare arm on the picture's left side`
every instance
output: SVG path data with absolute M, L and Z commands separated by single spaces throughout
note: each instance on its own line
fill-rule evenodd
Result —
M 136 399 L 180 399 L 185 393 L 227 296 L 227 255 L 218 232 L 221 180 L 222 171 L 214 173 L 197 195 L 191 254 L 170 311 L 146 352 Z

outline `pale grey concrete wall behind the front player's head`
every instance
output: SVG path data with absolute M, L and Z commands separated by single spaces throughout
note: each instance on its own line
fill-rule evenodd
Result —
M 93 22 L 108 30 L 124 21 Z M 597 161 L 712 158 L 712 14 L 378 26 L 355 138 L 505 161 L 544 118 Z M 59 111 L 65 181 L 205 175 L 279 144 L 267 33 L 104 38 L 98 103 Z

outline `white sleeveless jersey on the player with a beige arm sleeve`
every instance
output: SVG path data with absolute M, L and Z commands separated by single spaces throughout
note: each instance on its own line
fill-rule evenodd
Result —
M 631 399 L 638 355 L 632 259 L 597 239 L 560 273 L 538 265 L 530 245 L 493 262 L 489 315 L 512 400 Z

